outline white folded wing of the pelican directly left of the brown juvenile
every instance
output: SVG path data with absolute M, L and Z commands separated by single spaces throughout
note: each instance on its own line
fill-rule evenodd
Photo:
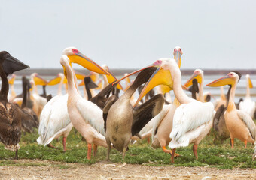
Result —
M 102 118 L 102 110 L 93 102 L 87 101 L 83 98 L 79 99 L 76 104 L 78 112 L 99 133 L 105 136 L 104 121 Z

